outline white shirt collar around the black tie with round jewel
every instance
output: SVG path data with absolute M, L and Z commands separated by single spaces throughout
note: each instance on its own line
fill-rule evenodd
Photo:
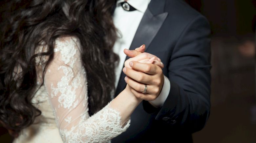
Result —
M 117 0 L 117 7 L 121 2 L 125 0 Z M 138 11 L 145 13 L 146 9 L 148 8 L 148 4 L 151 0 L 127 0 L 127 2 Z

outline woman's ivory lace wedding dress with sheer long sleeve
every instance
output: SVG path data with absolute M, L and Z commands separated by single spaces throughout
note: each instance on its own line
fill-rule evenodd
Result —
M 122 125 L 120 113 L 109 105 L 89 117 L 86 71 L 79 49 L 80 42 L 74 37 L 55 41 L 54 58 L 42 87 L 40 75 L 46 57 L 37 57 L 40 88 L 32 103 L 42 114 L 14 143 L 108 142 L 129 127 L 130 120 Z

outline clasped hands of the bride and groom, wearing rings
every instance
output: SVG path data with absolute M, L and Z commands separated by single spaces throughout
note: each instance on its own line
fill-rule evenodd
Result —
M 163 87 L 164 76 L 161 60 L 152 54 L 143 53 L 145 45 L 136 50 L 124 50 L 131 57 L 124 63 L 123 72 L 126 74 L 127 88 L 139 99 L 155 100 Z M 142 93 L 147 85 L 146 93 Z

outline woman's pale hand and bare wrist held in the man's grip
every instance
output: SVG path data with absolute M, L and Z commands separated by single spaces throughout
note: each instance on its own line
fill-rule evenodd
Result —
M 157 65 L 161 66 L 160 59 L 158 60 L 158 58 L 156 56 L 148 54 L 148 53 L 141 53 L 141 52 L 144 52 L 144 50 L 145 50 L 145 45 L 142 45 L 141 48 L 137 48 L 136 50 L 132 50 L 132 51 L 124 50 L 124 53 L 126 53 L 127 56 L 133 57 L 126 61 L 125 65 L 129 66 L 131 68 L 130 69 L 127 67 L 127 69 L 130 69 L 131 71 L 135 71 L 133 69 L 136 69 L 134 67 L 137 67 L 136 66 L 137 63 L 135 63 L 136 61 L 143 62 L 141 64 L 154 65 L 156 67 L 159 67 Z M 134 65 L 130 66 L 129 65 L 130 61 L 133 61 Z M 138 63 L 140 63 L 140 62 L 138 62 Z M 139 72 L 139 70 L 136 72 Z M 139 72 L 139 73 L 142 73 L 142 72 Z M 131 74 L 132 74 L 132 72 L 131 72 Z M 146 74 L 146 73 L 143 73 L 143 74 Z M 132 79 L 130 81 L 132 81 Z M 139 105 L 139 103 L 143 99 L 146 99 L 146 98 L 139 96 L 139 94 L 137 93 L 139 91 L 136 91 L 134 89 L 135 87 L 133 87 L 133 85 L 131 85 L 131 82 L 129 82 L 129 80 L 127 83 L 128 84 L 127 84 L 126 88 L 122 92 L 120 92 L 117 95 L 117 97 L 110 104 L 111 108 L 116 109 L 117 111 L 119 111 L 121 113 L 122 123 L 125 123 L 130 118 L 132 112 Z M 141 83 L 137 82 L 136 85 L 137 84 L 141 84 Z M 151 86 L 150 86 L 150 88 L 151 88 Z M 151 89 L 148 91 L 151 91 Z M 145 93 L 145 94 L 148 94 L 148 93 Z

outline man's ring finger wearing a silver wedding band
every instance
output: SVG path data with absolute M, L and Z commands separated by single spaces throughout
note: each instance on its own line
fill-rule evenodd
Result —
M 132 87 L 133 89 L 135 89 L 136 91 L 138 92 L 143 92 L 144 89 L 145 89 L 145 84 L 142 84 L 142 83 L 139 83 L 133 79 L 131 79 L 130 77 L 125 77 L 124 78 L 125 82 L 130 86 Z M 158 87 L 155 87 L 155 86 L 152 86 L 152 85 L 147 85 L 147 90 L 146 90 L 146 93 L 148 94 L 152 94 L 152 95 L 156 95 L 159 93 L 159 88 Z

